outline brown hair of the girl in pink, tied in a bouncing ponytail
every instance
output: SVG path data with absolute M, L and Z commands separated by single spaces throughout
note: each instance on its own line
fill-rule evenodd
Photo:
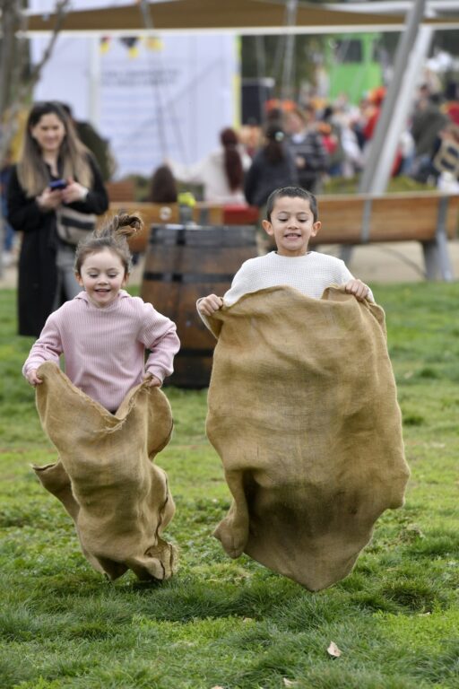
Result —
M 114 215 L 108 222 L 91 232 L 87 240 L 82 240 L 75 251 L 74 271 L 81 275 L 82 264 L 91 254 L 109 249 L 125 267 L 125 275 L 132 270 L 132 255 L 127 240 L 143 228 L 143 220 L 138 215 Z

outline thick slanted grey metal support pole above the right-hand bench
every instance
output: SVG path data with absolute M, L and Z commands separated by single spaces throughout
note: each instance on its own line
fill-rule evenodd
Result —
M 406 66 L 411 50 L 416 43 L 425 4 L 426 0 L 414 0 L 406 20 L 406 29 L 399 39 L 394 61 L 394 76 L 385 95 L 381 114 L 377 120 L 375 135 L 370 144 L 368 161 L 360 179 L 359 193 L 361 194 L 383 194 L 385 192 L 397 144 L 395 137 L 392 136 L 390 145 L 393 150 L 389 150 L 387 133 L 397 110 L 397 101 L 401 97 Z M 386 147 L 387 150 L 385 150 Z

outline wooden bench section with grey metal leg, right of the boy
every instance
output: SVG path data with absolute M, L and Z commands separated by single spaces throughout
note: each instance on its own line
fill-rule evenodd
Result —
M 447 240 L 457 233 L 459 195 L 410 192 L 318 196 L 322 228 L 311 246 L 419 241 L 428 280 L 453 280 Z

